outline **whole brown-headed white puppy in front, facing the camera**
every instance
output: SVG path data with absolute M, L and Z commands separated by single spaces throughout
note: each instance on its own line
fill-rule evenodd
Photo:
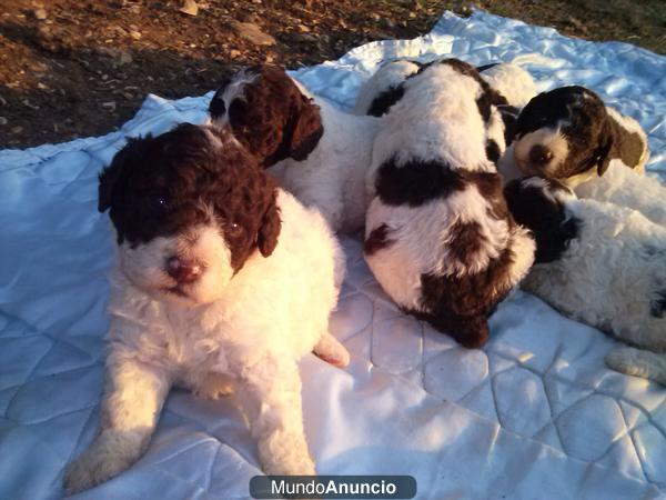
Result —
M 182 124 L 130 139 L 100 178 L 118 239 L 100 431 L 69 468 L 77 492 L 145 450 L 172 384 L 218 398 L 238 387 L 270 474 L 312 474 L 296 361 L 344 366 L 329 333 L 344 257 L 230 136 Z M 258 406 L 258 408 L 259 408 Z

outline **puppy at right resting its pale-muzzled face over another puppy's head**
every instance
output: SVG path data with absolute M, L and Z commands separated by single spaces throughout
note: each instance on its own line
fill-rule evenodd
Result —
M 574 86 L 529 101 L 498 169 L 506 181 L 523 176 L 558 179 L 581 198 L 629 207 L 666 224 L 666 188 L 643 176 L 647 158 L 647 138 L 634 119 Z

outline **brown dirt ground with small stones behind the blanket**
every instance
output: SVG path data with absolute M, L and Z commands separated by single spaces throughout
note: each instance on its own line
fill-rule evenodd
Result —
M 666 53 L 665 0 L 1 0 L 0 148 L 103 134 L 149 92 L 202 94 L 243 64 L 314 64 L 472 8 Z

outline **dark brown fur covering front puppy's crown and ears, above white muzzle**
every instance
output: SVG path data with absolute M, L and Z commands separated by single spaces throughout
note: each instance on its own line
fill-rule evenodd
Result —
M 256 249 L 264 257 L 275 249 L 276 193 L 273 178 L 243 148 L 228 141 L 219 149 L 202 127 L 183 123 L 130 139 L 100 176 L 99 208 L 111 209 L 119 243 L 132 246 L 215 223 L 238 271 Z

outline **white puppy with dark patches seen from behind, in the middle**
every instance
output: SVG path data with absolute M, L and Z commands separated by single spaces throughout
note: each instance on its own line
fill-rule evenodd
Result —
M 495 97 L 456 59 L 426 66 L 402 86 L 373 149 L 364 256 L 406 312 L 480 347 L 488 314 L 534 257 L 487 153 Z

